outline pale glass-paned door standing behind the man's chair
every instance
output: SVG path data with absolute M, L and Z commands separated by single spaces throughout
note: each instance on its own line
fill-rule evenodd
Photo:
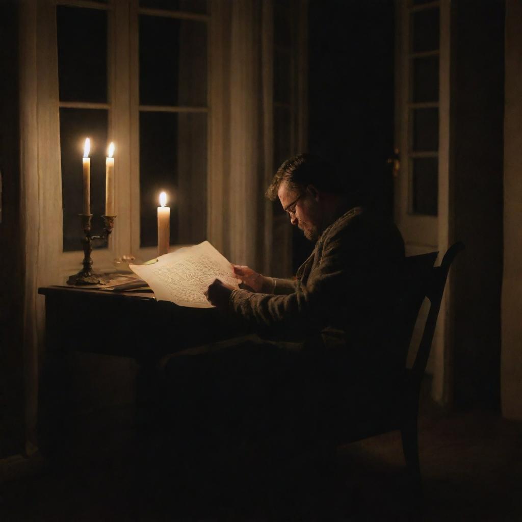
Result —
M 440 262 L 448 246 L 449 0 L 397 0 L 395 85 L 395 220 L 407 255 L 438 250 Z M 448 389 L 448 295 L 446 289 L 426 370 L 439 401 Z M 427 310 L 423 305 L 414 341 Z

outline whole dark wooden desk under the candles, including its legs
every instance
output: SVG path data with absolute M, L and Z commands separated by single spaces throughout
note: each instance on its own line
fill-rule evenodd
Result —
M 80 440 L 84 444 L 86 436 L 96 438 L 86 435 L 97 423 L 92 421 L 96 418 L 92 412 L 100 406 L 96 397 L 105 397 L 104 390 L 109 389 L 111 399 L 111 393 L 121 389 L 122 379 L 125 381 L 118 374 L 112 382 L 103 379 L 96 369 L 107 359 L 100 357 L 93 370 L 86 370 L 90 375 L 88 388 L 94 394 L 89 403 L 86 390 L 79 390 L 75 382 L 78 367 L 70 362 L 78 359 L 77 352 L 116 355 L 138 362 L 133 395 L 134 411 L 139 416 L 139 411 L 146 413 L 155 400 L 157 362 L 162 355 L 233 336 L 232 325 L 218 310 L 157 302 L 152 293 L 63 287 L 43 287 L 38 293 L 45 296 L 46 327 L 40 365 L 38 439 L 48 455 L 65 455 L 68 445 Z M 78 397 L 81 394 L 84 398 Z M 116 410 L 111 410 L 112 417 L 116 417 Z

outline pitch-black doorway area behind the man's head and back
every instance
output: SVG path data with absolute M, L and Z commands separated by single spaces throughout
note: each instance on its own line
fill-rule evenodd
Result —
M 309 151 L 334 161 L 366 190 L 366 202 L 392 216 L 394 3 L 311 0 Z M 311 246 L 294 236 L 294 268 Z

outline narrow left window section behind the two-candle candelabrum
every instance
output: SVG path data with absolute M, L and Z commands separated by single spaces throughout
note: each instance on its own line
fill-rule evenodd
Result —
M 110 105 L 107 77 L 107 11 L 56 7 L 63 250 L 80 250 L 84 141 L 91 138 L 91 213 L 94 232 L 105 213 L 105 148 Z M 97 230 L 97 229 L 100 230 Z M 100 245 L 94 245 L 100 246 Z M 102 245 L 103 246 L 103 245 Z

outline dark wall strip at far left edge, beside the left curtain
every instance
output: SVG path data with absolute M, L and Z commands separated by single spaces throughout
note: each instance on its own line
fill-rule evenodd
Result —
M 23 450 L 17 2 L 0 2 L 0 458 Z

